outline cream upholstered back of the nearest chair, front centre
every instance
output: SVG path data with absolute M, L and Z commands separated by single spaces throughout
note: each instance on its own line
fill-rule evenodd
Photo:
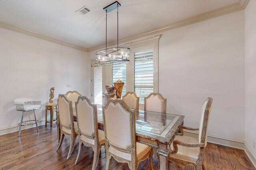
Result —
M 109 99 L 103 107 L 106 151 L 119 161 L 136 155 L 135 113 L 120 99 Z

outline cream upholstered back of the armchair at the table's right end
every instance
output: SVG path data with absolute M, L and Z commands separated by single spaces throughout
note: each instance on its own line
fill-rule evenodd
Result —
M 199 143 L 205 143 L 204 147 L 206 147 L 207 145 L 207 132 L 208 132 L 208 124 L 209 124 L 211 110 L 212 110 L 212 98 L 206 98 L 201 109 L 201 119 L 199 124 L 199 131 L 198 131 Z

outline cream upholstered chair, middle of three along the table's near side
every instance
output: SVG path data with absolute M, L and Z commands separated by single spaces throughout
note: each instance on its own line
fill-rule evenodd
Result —
M 94 151 L 92 170 L 95 170 L 100 149 L 105 145 L 105 134 L 104 131 L 98 130 L 97 105 L 93 104 L 89 97 L 78 97 L 76 102 L 76 120 L 78 125 L 79 149 L 75 165 L 85 145 L 92 147 Z

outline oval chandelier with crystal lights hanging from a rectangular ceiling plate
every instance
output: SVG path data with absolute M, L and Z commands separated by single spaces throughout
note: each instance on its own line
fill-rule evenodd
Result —
M 129 63 L 130 48 L 118 47 L 118 7 L 121 6 L 117 1 L 106 6 L 103 10 L 106 12 L 106 49 L 100 50 L 96 53 L 96 65 L 108 66 Z M 117 47 L 107 49 L 107 13 L 117 8 Z

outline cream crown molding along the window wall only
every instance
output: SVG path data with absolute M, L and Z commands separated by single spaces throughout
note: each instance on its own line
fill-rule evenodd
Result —
M 178 27 L 183 27 L 183 26 L 186 26 L 186 25 L 190 25 L 192 23 L 197 23 L 197 22 L 208 20 L 208 19 L 215 18 L 215 17 L 218 17 L 218 16 L 230 14 L 232 12 L 237 12 L 237 11 L 240 11 L 240 10 L 244 10 L 249 1 L 250 0 L 238 0 L 237 3 L 231 4 L 231 5 L 228 5 L 228 6 L 224 6 L 222 8 L 218 8 L 216 10 L 212 10 L 212 11 L 209 11 L 209 12 L 205 12 L 205 13 L 199 14 L 197 16 L 192 16 L 192 17 L 186 18 L 184 20 L 174 22 L 171 25 L 168 25 L 166 27 L 154 29 L 154 30 L 151 30 L 151 31 L 147 31 L 147 32 L 144 32 L 144 33 L 141 33 L 141 34 L 134 35 L 134 36 L 129 37 L 129 38 L 119 40 L 119 43 L 120 44 L 128 43 L 129 41 L 132 41 L 134 39 L 140 39 L 142 37 L 146 37 L 146 36 L 150 36 L 150 35 L 154 35 L 154 34 L 159 34 L 159 33 L 162 33 L 164 31 L 168 31 L 168 30 L 175 29 L 175 28 L 178 28 Z M 108 46 L 116 45 L 116 43 L 117 43 L 117 41 L 110 42 L 110 43 L 108 43 Z M 97 46 L 94 46 L 94 47 L 90 47 L 87 50 L 88 50 L 88 52 L 90 52 L 90 51 L 102 49 L 105 46 L 106 46 L 105 44 L 97 45 Z

